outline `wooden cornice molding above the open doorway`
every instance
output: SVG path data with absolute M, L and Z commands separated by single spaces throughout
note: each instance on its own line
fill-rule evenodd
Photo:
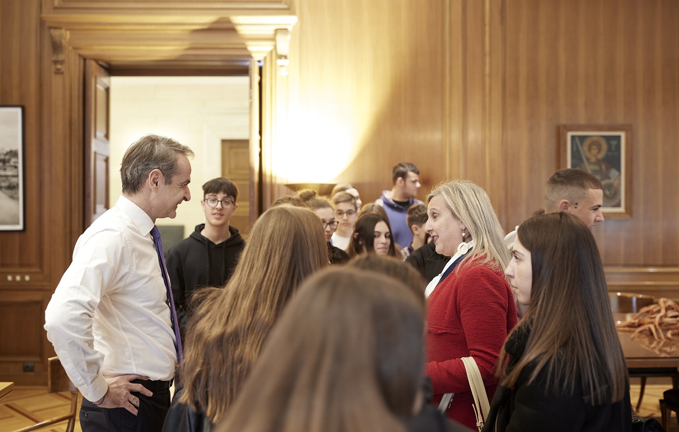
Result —
M 179 60 L 186 64 L 212 64 L 263 59 L 274 50 L 276 31 L 291 30 L 297 16 L 285 10 L 238 9 L 242 15 L 206 14 L 187 9 L 185 14 L 143 13 L 141 10 L 102 12 L 55 11 L 41 15 L 50 31 L 66 31 L 69 46 L 86 58 L 111 65 Z M 148 12 L 148 11 L 147 11 Z M 221 10 L 222 13 L 236 12 Z M 56 64 L 56 63 L 55 63 Z

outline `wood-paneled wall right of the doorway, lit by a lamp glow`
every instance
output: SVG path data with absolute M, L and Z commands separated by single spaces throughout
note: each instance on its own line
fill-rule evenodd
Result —
M 420 198 L 469 178 L 509 231 L 562 168 L 559 124 L 629 123 L 634 217 L 607 220 L 595 237 L 606 266 L 663 267 L 678 288 L 678 2 L 299 3 L 297 110 L 368 123 L 346 143 L 358 156 L 327 180 L 355 182 L 368 202 L 390 187 L 392 165 L 412 161 Z

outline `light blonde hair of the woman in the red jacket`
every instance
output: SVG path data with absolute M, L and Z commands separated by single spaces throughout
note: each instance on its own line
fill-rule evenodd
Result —
M 504 231 L 498 216 L 483 188 L 469 180 L 446 180 L 434 186 L 426 196 L 427 206 L 433 197 L 443 198 L 448 210 L 464 224 L 474 239 L 474 248 L 455 271 L 465 262 L 477 259 L 480 264 L 504 270 L 509 262 L 509 250 L 504 245 Z

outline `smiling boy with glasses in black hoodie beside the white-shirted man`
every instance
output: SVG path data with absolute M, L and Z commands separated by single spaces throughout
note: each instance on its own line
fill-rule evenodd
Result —
M 181 335 L 185 334 L 191 294 L 201 287 L 224 286 L 245 247 L 238 229 L 229 224 L 238 208 L 238 186 L 225 177 L 203 184 L 200 205 L 205 223 L 168 251 L 167 267 Z

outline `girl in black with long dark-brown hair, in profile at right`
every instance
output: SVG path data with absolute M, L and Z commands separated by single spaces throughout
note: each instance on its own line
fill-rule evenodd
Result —
M 519 226 L 505 274 L 526 315 L 500 353 L 504 370 L 484 431 L 630 431 L 627 368 L 604 268 L 568 213 Z

